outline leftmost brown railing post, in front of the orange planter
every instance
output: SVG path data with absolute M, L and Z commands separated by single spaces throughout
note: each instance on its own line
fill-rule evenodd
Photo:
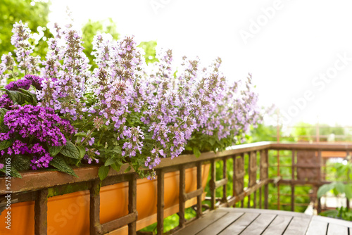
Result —
M 48 189 L 37 191 L 34 203 L 34 234 L 46 235 L 48 228 Z

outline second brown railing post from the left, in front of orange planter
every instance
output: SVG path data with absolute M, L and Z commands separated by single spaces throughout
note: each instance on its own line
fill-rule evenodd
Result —
M 89 189 L 89 234 L 96 235 L 101 234 L 100 224 L 100 184 L 99 180 L 95 180 L 92 183 L 92 187 Z

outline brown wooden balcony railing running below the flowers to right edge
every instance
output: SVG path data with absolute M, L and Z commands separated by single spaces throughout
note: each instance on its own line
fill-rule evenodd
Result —
M 277 151 L 291 151 L 291 179 L 282 179 L 279 174 L 279 154 Z M 194 155 L 182 155 L 173 160 L 164 158 L 157 171 L 157 233 L 163 234 L 164 221 L 164 175 L 167 172 L 180 172 L 179 212 L 180 224 L 169 233 L 173 233 L 189 222 L 201 217 L 204 212 L 214 210 L 218 207 L 252 207 L 268 208 L 268 186 L 275 184 L 291 186 L 291 210 L 294 210 L 295 187 L 297 185 L 310 185 L 316 192 L 319 186 L 326 184 L 322 180 L 322 151 L 339 151 L 348 155 L 352 151 L 352 144 L 273 144 L 270 142 L 259 142 L 255 144 L 244 144 L 233 146 L 227 151 L 220 153 L 202 153 L 199 158 Z M 278 158 L 276 167 L 277 175 L 269 175 L 270 158 Z M 217 162 L 222 163 L 222 179 L 216 179 Z M 231 179 L 228 177 L 227 165 L 233 172 Z M 210 201 L 209 206 L 202 201 L 204 191 L 201 185 L 202 165 L 210 163 Z M 219 164 L 219 163 L 218 163 Z M 89 231 L 90 234 L 106 234 L 122 226 L 128 225 L 128 234 L 137 234 L 136 222 L 138 211 L 136 207 L 137 198 L 137 174 L 130 170 L 125 172 L 127 165 L 123 165 L 120 172 L 111 170 L 108 177 L 99 181 L 96 166 L 75 169 L 78 178 L 71 177 L 61 172 L 23 172 L 22 179 L 11 179 L 11 203 L 34 201 L 34 233 L 47 233 L 47 198 L 49 189 L 54 188 L 56 195 L 68 192 L 83 191 L 89 189 Z M 196 167 L 196 190 L 186 193 L 185 170 Z M 99 217 L 100 187 L 120 182 L 128 182 L 128 214 L 111 222 L 101 224 Z M 232 195 L 227 195 L 227 187 L 232 182 Z M 248 183 L 247 183 L 248 182 Z M 0 177 L 0 210 L 6 206 L 5 189 L 6 179 Z M 222 196 L 216 196 L 216 189 L 222 187 Z M 68 191 L 68 189 L 70 189 Z M 279 192 L 279 191 L 278 191 Z M 278 193 L 279 194 L 279 193 Z M 314 195 L 313 195 L 314 197 Z M 315 196 L 316 197 L 316 196 Z M 196 198 L 196 204 L 192 208 L 196 210 L 196 217 L 192 220 L 185 219 L 186 201 Z M 278 195 L 279 198 L 279 195 Z M 314 198 L 313 198 L 314 199 Z M 245 205 L 245 202 L 247 205 Z M 278 199 L 277 207 L 280 208 Z M 203 211 L 204 209 L 208 209 Z M 111 209 L 113 210 L 113 208 Z

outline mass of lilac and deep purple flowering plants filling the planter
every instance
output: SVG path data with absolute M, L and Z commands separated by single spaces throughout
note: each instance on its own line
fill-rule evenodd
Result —
M 204 66 L 184 57 L 177 66 L 161 49 L 146 65 L 134 37 L 96 34 L 91 71 L 71 25 L 55 25 L 40 63 L 30 57 L 27 25 L 13 32 L 17 63 L 9 53 L 0 64 L 0 164 L 10 156 L 27 166 L 13 174 L 51 167 L 75 175 L 70 165 L 96 164 L 104 179 L 127 163 L 153 179 L 162 158 L 220 151 L 260 120 L 251 75 L 243 89 L 227 84 L 220 58 Z

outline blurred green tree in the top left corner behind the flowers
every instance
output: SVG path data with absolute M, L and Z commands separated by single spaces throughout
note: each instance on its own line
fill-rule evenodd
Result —
M 0 56 L 15 49 L 11 44 L 11 30 L 15 22 L 22 20 L 35 33 L 31 42 L 35 45 L 34 56 L 45 57 L 47 44 L 44 41 L 52 37 L 46 28 L 49 6 L 49 1 L 0 0 Z

